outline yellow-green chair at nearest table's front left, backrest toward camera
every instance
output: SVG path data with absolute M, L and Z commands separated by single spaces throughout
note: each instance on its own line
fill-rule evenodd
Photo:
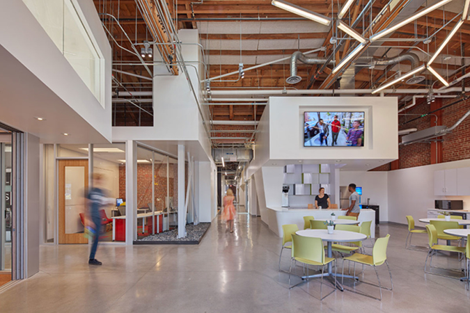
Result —
M 289 269 L 289 286 L 290 286 L 290 273 L 292 271 L 292 260 L 295 262 L 300 262 L 306 264 L 307 266 L 307 274 L 308 274 L 308 266 L 321 266 L 322 268 L 322 276 L 320 280 L 320 300 L 327 298 L 330 294 L 333 294 L 336 291 L 336 280 L 334 285 L 334 290 L 331 291 L 327 296 L 322 296 L 323 294 L 323 275 L 324 275 L 324 266 L 328 265 L 331 262 L 334 262 L 335 268 L 335 276 L 336 276 L 336 259 L 331 257 L 325 257 L 324 255 L 324 248 L 323 248 L 323 241 L 320 238 L 314 237 L 304 237 L 299 236 L 297 234 L 292 234 L 292 259 L 290 260 L 290 269 Z M 306 280 L 302 280 L 298 284 L 302 282 L 308 281 L 308 277 Z M 290 286 L 289 289 L 294 288 L 298 284 Z

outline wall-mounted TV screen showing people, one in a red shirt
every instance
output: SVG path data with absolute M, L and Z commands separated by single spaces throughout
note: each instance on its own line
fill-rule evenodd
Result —
M 304 147 L 363 147 L 364 112 L 304 112 Z

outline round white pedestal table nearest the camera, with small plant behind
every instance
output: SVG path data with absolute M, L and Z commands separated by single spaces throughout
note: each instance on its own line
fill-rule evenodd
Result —
M 354 222 L 354 220 L 350 220 Z M 299 230 L 296 232 L 299 236 L 304 236 L 304 237 L 314 237 L 314 238 L 320 238 L 322 241 L 327 241 L 327 257 L 332 257 L 333 252 L 331 250 L 331 243 L 334 242 L 355 242 L 355 241 L 363 241 L 364 239 L 367 238 L 365 234 L 361 234 L 360 232 L 347 232 L 345 230 L 335 230 L 333 234 L 328 234 L 328 230 Z M 310 275 L 308 276 L 309 278 L 316 278 L 320 277 L 321 274 L 318 275 Z M 336 280 L 336 277 L 342 277 L 343 275 L 336 273 L 335 274 L 332 271 L 332 264 L 331 262 L 328 264 L 328 273 L 324 273 L 324 276 L 333 278 Z M 351 275 L 344 275 L 345 278 L 355 278 L 354 276 Z M 306 278 L 303 277 L 303 278 Z M 343 291 L 343 286 L 336 280 L 336 286 L 338 286 L 338 289 Z

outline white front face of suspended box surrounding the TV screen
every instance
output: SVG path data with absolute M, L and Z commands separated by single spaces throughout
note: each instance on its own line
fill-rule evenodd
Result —
M 305 111 L 365 111 L 364 147 L 304 147 Z M 269 157 L 280 160 L 398 159 L 395 97 L 270 97 Z M 318 162 L 327 163 L 327 162 Z

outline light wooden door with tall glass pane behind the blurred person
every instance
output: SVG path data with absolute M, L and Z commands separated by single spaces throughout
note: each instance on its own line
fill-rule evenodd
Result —
M 88 160 L 58 161 L 58 243 L 88 243 L 80 214 L 86 213 Z

